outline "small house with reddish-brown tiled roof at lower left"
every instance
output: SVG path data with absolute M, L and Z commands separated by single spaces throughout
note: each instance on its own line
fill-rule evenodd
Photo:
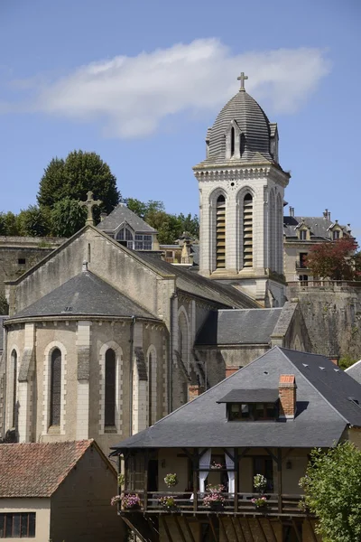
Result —
M 91 440 L 0 444 L 0 538 L 118 541 L 116 478 Z

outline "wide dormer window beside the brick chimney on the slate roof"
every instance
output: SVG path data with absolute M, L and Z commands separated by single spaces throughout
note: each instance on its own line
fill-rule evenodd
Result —
M 278 419 L 278 389 L 233 389 L 218 403 L 226 404 L 228 422 Z

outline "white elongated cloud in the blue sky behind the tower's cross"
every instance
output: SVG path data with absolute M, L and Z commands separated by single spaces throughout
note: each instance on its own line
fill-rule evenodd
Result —
M 319 49 L 233 54 L 216 39 L 196 40 L 42 79 L 33 83 L 31 108 L 83 121 L 100 118 L 109 135 L 142 137 L 173 114 L 216 114 L 236 93 L 241 70 L 249 76 L 246 89 L 262 98 L 268 113 L 293 113 L 329 73 L 330 63 Z

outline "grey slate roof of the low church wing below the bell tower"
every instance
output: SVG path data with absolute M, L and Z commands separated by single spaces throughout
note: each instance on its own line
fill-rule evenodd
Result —
M 196 344 L 268 344 L 282 308 L 219 310 L 208 314 Z

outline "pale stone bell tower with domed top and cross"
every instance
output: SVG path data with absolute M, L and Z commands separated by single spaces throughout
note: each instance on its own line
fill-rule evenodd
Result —
M 240 89 L 208 128 L 199 182 L 199 273 L 282 306 L 283 195 L 290 174 L 278 158 L 277 125 Z

